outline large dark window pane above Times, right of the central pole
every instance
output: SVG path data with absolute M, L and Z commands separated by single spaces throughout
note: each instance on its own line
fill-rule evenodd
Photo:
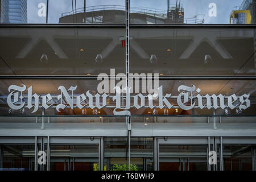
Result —
M 253 28 L 133 28 L 130 31 L 131 73 L 255 75 Z

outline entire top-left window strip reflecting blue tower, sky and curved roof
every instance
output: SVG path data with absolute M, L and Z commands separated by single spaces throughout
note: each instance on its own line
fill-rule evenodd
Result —
M 0 23 L 125 23 L 125 1 L 1 0 L 0 7 Z

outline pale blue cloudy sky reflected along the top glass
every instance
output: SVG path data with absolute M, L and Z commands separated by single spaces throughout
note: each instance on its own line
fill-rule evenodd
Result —
M 197 14 L 204 14 L 204 24 L 229 24 L 229 15 L 237 9 L 243 0 L 181 0 L 184 8 L 184 18 L 192 18 Z M 46 17 L 38 15 L 39 3 L 46 0 L 27 0 L 28 23 L 46 23 Z M 75 0 L 73 0 L 75 6 Z M 210 3 L 216 4 L 216 16 L 210 17 L 208 7 Z M 176 0 L 170 0 L 176 5 Z M 86 0 L 86 7 L 98 5 L 125 6 L 123 0 Z M 84 0 L 76 0 L 77 9 L 84 7 Z M 167 0 L 130 0 L 130 7 L 147 7 L 167 11 Z M 72 0 L 49 0 L 48 23 L 59 23 L 62 13 L 72 11 Z

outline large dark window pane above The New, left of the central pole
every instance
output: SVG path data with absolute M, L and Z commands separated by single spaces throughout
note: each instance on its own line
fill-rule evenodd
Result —
M 0 75 L 125 73 L 121 28 L 1 28 Z

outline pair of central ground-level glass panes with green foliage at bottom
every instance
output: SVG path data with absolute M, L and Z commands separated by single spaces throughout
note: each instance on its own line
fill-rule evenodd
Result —
M 131 138 L 131 171 L 153 170 L 153 139 Z M 105 170 L 128 171 L 127 138 L 105 138 Z

